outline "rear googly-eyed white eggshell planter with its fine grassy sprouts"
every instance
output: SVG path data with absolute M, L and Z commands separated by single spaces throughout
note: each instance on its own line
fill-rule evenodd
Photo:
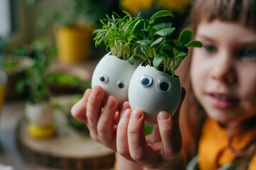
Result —
M 129 42 L 132 28 L 128 28 L 133 18 L 130 13 L 124 11 L 124 17 L 114 13 L 110 18 L 101 21 L 102 28 L 94 31 L 95 45 L 105 42 L 107 50 L 110 50 L 97 64 L 92 74 L 92 87 L 102 86 L 105 89 L 105 97 L 113 95 L 117 97 L 119 105 L 128 100 L 129 81 L 136 64 L 129 64 L 135 45 Z M 105 23 L 106 22 L 106 23 Z

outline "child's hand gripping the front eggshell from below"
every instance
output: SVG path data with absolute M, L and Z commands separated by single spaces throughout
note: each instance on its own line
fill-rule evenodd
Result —
M 172 117 L 166 111 L 159 113 L 158 125 L 145 137 L 144 112 L 127 109 L 117 128 L 117 152 L 146 168 L 184 169 L 178 112 L 179 109 Z

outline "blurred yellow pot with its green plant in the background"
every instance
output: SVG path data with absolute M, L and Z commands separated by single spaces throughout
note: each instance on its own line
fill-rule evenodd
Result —
M 43 4 L 41 0 L 26 1 L 31 7 Z M 60 63 L 76 64 L 90 58 L 92 31 L 110 4 L 103 0 L 62 0 L 42 9 L 38 26 L 43 29 L 53 26 Z

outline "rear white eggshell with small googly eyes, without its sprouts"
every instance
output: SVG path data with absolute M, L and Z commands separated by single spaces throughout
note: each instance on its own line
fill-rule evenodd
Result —
M 107 53 L 97 64 L 92 74 L 92 88 L 100 85 L 107 96 L 117 97 L 119 105 L 128 101 L 129 81 L 137 68 L 137 64 L 129 64 L 127 60 L 120 60 L 115 55 Z

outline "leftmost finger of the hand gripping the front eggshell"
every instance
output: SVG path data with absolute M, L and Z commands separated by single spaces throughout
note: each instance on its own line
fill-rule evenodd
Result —
M 131 109 L 125 110 L 117 125 L 117 152 L 130 160 L 132 158 L 129 156 L 127 130 L 131 113 Z

